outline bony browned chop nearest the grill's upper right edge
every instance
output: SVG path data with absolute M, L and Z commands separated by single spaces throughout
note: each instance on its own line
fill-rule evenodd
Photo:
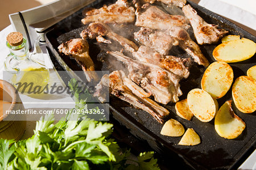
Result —
M 225 29 L 218 29 L 218 25 L 205 22 L 190 5 L 184 6 L 182 10 L 192 25 L 198 44 L 212 44 L 228 33 Z

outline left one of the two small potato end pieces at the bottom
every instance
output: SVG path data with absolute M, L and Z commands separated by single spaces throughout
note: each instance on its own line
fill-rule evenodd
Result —
M 169 137 L 180 137 L 184 134 L 184 131 L 184 127 L 180 124 L 180 122 L 171 118 L 163 125 L 160 134 Z

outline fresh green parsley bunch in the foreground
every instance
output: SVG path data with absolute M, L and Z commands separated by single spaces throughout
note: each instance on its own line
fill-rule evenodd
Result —
M 69 86 L 79 101 L 75 109 L 83 109 L 86 103 L 79 99 L 74 83 L 72 80 Z M 49 114 L 36 122 L 31 138 L 19 142 L 0 139 L 0 169 L 159 169 L 154 152 L 131 159 L 130 151 L 123 151 L 111 138 L 112 124 L 80 119 L 66 117 L 53 124 L 54 116 Z

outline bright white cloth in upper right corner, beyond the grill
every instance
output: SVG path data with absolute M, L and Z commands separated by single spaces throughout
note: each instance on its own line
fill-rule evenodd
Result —
M 201 0 L 199 5 L 256 30 L 255 0 Z

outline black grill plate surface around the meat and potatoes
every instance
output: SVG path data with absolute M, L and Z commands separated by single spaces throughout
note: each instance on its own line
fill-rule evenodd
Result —
M 110 3 L 115 3 L 115 1 L 95 1 L 88 7 L 100 8 L 104 4 L 108 5 Z M 228 30 L 229 34 L 240 35 L 241 37 L 253 40 L 254 42 L 256 41 L 256 37 L 221 16 L 218 16 L 193 2 L 188 1 L 188 3 L 196 9 L 197 13 L 206 22 L 218 24 L 221 28 Z M 61 42 L 80 38 L 79 33 L 85 28 L 81 23 L 82 18 L 82 10 L 77 11 L 75 14 L 53 25 L 51 30 L 47 32 L 46 39 L 48 50 L 50 50 L 49 54 L 56 70 L 81 70 L 81 67 L 77 65 L 75 59 L 59 54 L 57 52 L 57 46 L 59 46 Z M 109 66 L 106 54 L 101 52 L 96 40 L 88 40 L 88 42 L 90 47 L 90 57 L 96 65 L 96 70 L 114 71 L 113 68 Z M 217 44 L 220 44 L 220 42 Z M 214 61 L 212 52 L 217 44 L 200 45 L 203 54 L 207 57 L 210 63 Z M 176 56 L 188 57 L 188 55 L 179 48 L 176 48 L 175 50 Z M 117 61 L 117 63 L 121 64 L 119 61 Z M 254 66 L 255 63 L 255 56 L 243 62 L 230 63 L 230 66 L 232 66 L 234 71 L 234 80 L 236 80 L 238 76 L 246 75 L 247 69 Z M 181 90 L 183 91 L 183 95 L 179 97 L 180 100 L 187 98 L 188 92 L 193 88 L 201 88 L 200 81 L 204 70 L 204 67 L 197 65 L 192 66 L 189 78 L 180 82 Z M 67 83 L 67 80 L 64 80 L 64 82 Z M 232 99 L 231 90 L 229 90 L 224 97 L 217 100 L 219 107 L 221 107 L 226 100 L 230 99 Z M 241 113 L 234 105 L 232 106 L 234 112 L 245 121 L 246 129 L 240 137 L 229 140 L 221 138 L 216 133 L 214 130 L 214 120 L 205 123 L 193 117 L 191 121 L 187 121 L 176 115 L 174 103 L 169 103 L 163 106 L 170 111 L 169 118 L 175 118 L 183 124 L 185 128 L 193 128 L 199 134 L 201 138 L 200 145 L 179 146 L 177 143 L 179 143 L 181 137 L 166 137 L 161 135 L 160 130 L 163 125 L 159 124 L 150 114 L 140 109 L 135 109 L 131 107 L 130 104 L 114 96 L 110 96 L 109 103 L 112 116 L 122 125 L 125 125 L 130 129 L 132 134 L 136 135 L 139 139 L 146 140 L 150 146 L 159 153 L 169 156 L 171 155 L 172 158 L 174 158 L 173 160 L 170 160 L 170 165 L 174 165 L 175 163 L 179 163 L 180 160 L 183 160 L 183 162 L 195 169 L 233 169 L 237 168 L 241 161 L 243 161 L 241 160 L 242 156 L 247 151 L 250 151 L 251 147 L 255 147 L 255 112 L 251 114 Z M 177 160 L 177 162 L 175 160 Z

